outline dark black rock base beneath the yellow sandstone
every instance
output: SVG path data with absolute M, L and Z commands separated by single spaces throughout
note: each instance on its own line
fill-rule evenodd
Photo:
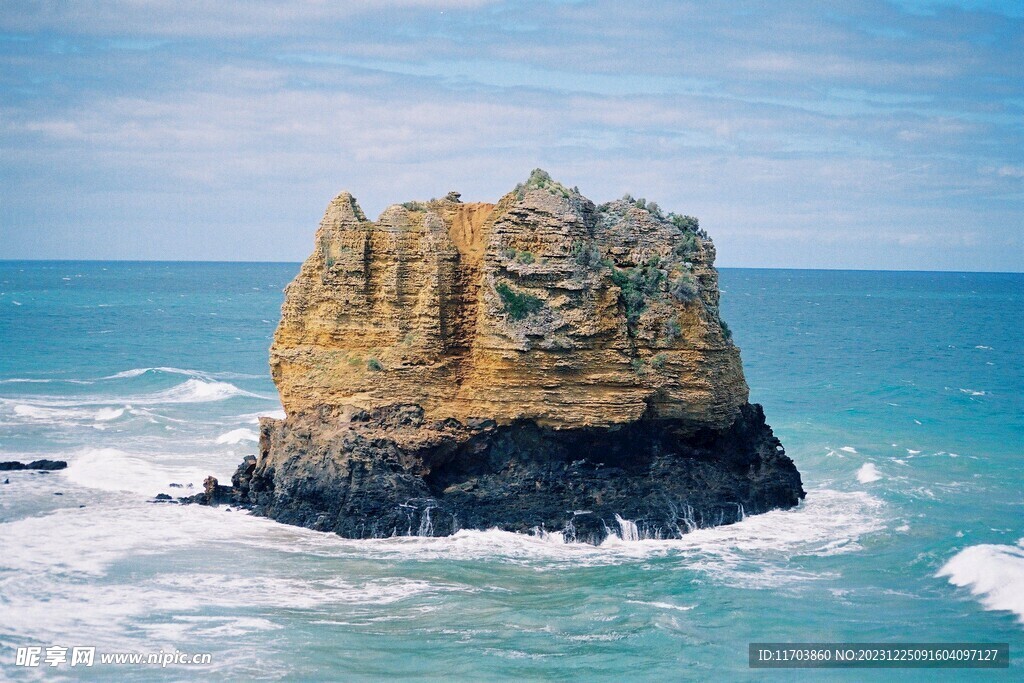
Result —
M 183 500 L 354 539 L 497 527 L 600 543 L 609 533 L 679 538 L 804 498 L 757 404 L 729 429 L 696 433 L 666 421 L 553 430 L 425 425 L 422 415 L 398 407 L 347 420 L 265 419 L 260 458 L 239 467 L 231 487 L 208 481 Z

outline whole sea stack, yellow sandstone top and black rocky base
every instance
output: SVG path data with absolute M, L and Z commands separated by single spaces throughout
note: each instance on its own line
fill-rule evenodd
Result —
M 589 543 L 798 505 L 714 261 L 696 219 L 541 170 L 498 204 L 450 193 L 376 222 L 338 195 L 270 348 L 286 417 L 261 420 L 236 502 L 348 538 Z

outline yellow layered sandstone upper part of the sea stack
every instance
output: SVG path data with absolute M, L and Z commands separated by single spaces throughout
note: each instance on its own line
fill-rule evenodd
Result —
M 328 206 L 270 349 L 289 417 L 417 403 L 429 420 L 556 429 L 641 417 L 723 429 L 746 403 L 696 221 L 600 207 L 535 171 L 497 205 L 369 221 Z

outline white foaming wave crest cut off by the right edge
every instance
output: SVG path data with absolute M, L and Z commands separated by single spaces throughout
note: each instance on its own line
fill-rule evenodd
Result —
M 1007 610 L 1024 624 L 1024 539 L 1016 546 L 970 546 L 942 565 L 937 577 L 968 588 L 985 609 Z

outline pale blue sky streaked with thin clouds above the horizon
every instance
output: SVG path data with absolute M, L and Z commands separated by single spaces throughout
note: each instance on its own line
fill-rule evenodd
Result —
M 1019 0 L 8 0 L 0 258 L 298 261 L 540 167 L 721 266 L 1022 271 L 1022 131 Z

